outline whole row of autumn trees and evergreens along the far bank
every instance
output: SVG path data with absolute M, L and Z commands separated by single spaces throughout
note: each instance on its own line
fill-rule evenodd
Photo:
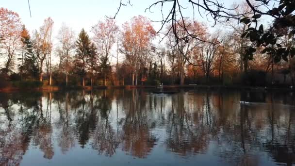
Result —
M 215 31 L 210 31 L 206 23 L 180 18 L 177 24 L 165 25 L 163 36 L 147 17 L 135 16 L 122 26 L 115 19 L 99 20 L 90 32 L 82 29 L 78 35 L 63 23 L 57 36 L 53 36 L 54 21 L 50 17 L 30 33 L 16 12 L 0 8 L 1 77 L 12 82 L 62 86 L 264 86 L 279 82 L 279 73 L 282 84 L 294 85 L 293 29 L 281 28 L 272 48 L 260 44 L 254 49 L 259 34 L 250 31 L 248 24 L 257 22 L 260 16 L 246 2 L 232 12 L 233 16 L 243 15 L 243 19 L 221 22 L 222 28 Z M 259 31 L 274 31 L 272 25 L 263 28 L 261 24 Z M 53 44 L 54 40 L 57 44 Z M 279 49 L 284 47 L 291 48 L 287 56 L 270 53 L 285 54 Z

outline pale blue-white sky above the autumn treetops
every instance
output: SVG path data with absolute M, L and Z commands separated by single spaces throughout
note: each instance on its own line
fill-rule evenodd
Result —
M 127 0 L 123 0 L 123 2 Z M 130 0 L 132 6 L 122 6 L 116 17 L 117 25 L 121 26 L 132 17 L 143 15 L 156 21 L 162 18 L 160 13 L 161 6 L 153 8 L 150 13 L 145 9 L 156 0 Z M 181 0 L 186 1 L 186 0 Z M 224 0 L 225 6 L 230 7 L 233 2 L 240 0 Z M 98 20 L 105 19 L 106 16 L 114 16 L 119 7 L 120 0 L 30 0 L 32 17 L 30 17 L 28 0 L 1 0 L 0 7 L 7 8 L 19 14 L 21 21 L 27 29 L 32 32 L 39 29 L 44 19 L 51 17 L 54 21 L 53 39 L 56 42 L 57 33 L 63 22 L 71 27 L 77 35 L 84 28 L 89 35 L 91 27 Z M 184 2 L 186 3 L 186 2 Z M 187 3 L 186 3 L 187 4 Z M 190 6 L 188 6 L 190 7 Z M 164 6 L 164 11 L 168 8 Z M 191 16 L 192 12 L 186 10 L 185 16 Z M 197 17 L 201 22 L 205 19 Z M 210 23 L 209 23 L 210 24 Z M 156 31 L 160 29 L 160 23 L 153 23 Z

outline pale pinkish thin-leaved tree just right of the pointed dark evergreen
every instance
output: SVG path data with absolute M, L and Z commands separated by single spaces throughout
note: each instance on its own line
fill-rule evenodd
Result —
M 98 48 L 100 72 L 103 74 L 103 85 L 106 85 L 106 76 L 110 73 L 110 57 L 112 56 L 111 50 L 115 44 L 116 35 L 118 33 L 118 26 L 114 19 L 106 18 L 104 21 L 98 21 L 92 27 L 94 33 L 93 40 L 96 42 Z

